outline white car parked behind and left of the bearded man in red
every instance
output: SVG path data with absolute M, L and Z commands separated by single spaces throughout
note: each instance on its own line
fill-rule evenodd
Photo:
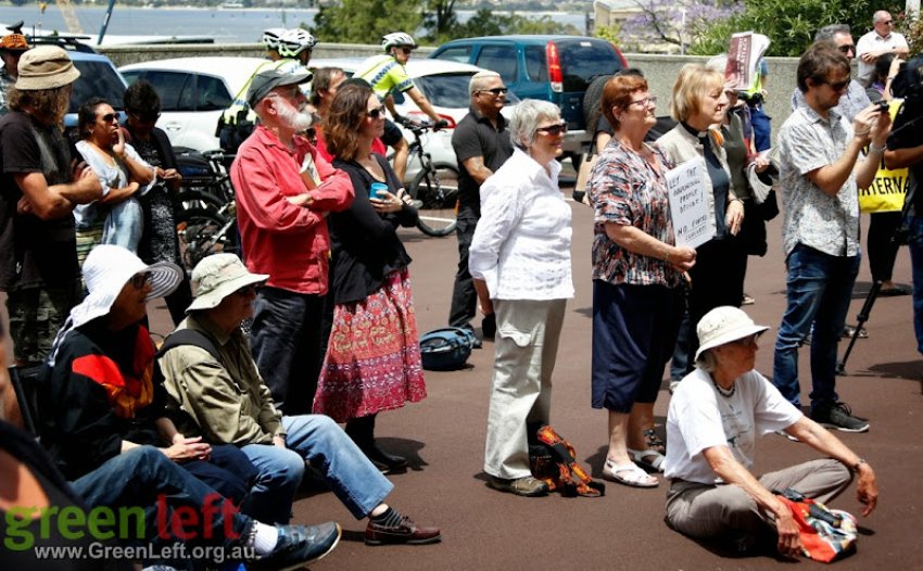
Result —
M 265 65 L 263 58 L 174 58 L 119 67 L 128 84 L 144 79 L 161 97 L 157 127 L 174 147 L 197 151 L 219 149 L 218 117 L 248 79 Z

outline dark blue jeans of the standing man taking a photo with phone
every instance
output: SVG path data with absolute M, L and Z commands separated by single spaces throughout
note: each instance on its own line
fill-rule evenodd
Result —
M 798 244 L 788 255 L 788 306 L 775 338 L 773 383 L 800 406 L 798 347 L 811 331 L 811 410 L 836 401 L 836 350 L 861 256 L 832 256 Z

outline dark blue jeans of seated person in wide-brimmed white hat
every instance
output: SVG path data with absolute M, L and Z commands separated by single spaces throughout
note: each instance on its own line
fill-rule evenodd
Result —
M 160 513 L 162 525 L 163 522 L 173 521 L 178 508 L 194 511 L 203 522 L 203 525 L 194 529 L 199 538 L 197 544 L 219 544 L 226 548 L 241 545 L 249 537 L 253 525 L 248 516 L 235 513 L 231 522 L 233 533 L 226 535 L 225 513 L 229 512 L 230 506 L 223 507 L 228 500 L 153 446 L 140 446 L 110 458 L 96 470 L 71 482 L 71 485 L 91 508 L 142 507 L 147 537 L 138 541 L 139 544 L 150 541 L 163 545 L 161 542 L 164 540 L 157 534 L 159 509 L 166 509 L 165 513 Z M 206 509 L 211 517 L 207 517 Z M 236 508 L 233 510 L 237 511 Z M 165 529 L 169 530 L 169 524 Z M 189 525 L 185 529 L 192 531 Z

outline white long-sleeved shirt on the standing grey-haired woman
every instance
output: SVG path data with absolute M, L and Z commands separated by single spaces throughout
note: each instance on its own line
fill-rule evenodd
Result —
M 513 156 L 481 186 L 481 219 L 468 250 L 468 269 L 484 280 L 492 300 L 573 297 L 571 210 L 551 176 L 531 156 Z

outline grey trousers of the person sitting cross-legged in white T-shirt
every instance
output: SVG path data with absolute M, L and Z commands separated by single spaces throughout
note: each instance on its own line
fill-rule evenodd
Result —
M 770 472 L 759 479 L 768 490 L 797 490 L 826 503 L 846 490 L 852 473 L 837 460 L 811 460 Z M 774 533 L 771 515 L 736 485 L 705 485 L 673 481 L 667 493 L 667 524 L 696 540 L 713 540 L 736 550 L 755 547 L 760 536 Z

